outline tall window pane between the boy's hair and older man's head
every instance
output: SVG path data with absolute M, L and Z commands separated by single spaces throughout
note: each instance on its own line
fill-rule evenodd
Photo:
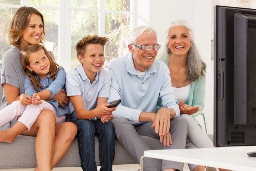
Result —
M 106 36 L 109 37 L 105 57 L 112 58 L 126 55 L 130 30 L 130 17 L 123 14 L 106 14 Z M 106 64 L 107 65 L 107 64 Z

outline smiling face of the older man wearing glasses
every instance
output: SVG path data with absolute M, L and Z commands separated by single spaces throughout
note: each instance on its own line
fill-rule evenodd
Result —
M 154 32 L 144 32 L 137 39 L 134 44 L 141 46 L 157 45 L 157 37 Z M 147 67 L 152 66 L 157 55 L 157 50 L 151 48 L 150 51 L 140 49 L 132 44 L 128 45 L 129 51 L 132 53 L 134 67 L 138 71 L 146 71 Z

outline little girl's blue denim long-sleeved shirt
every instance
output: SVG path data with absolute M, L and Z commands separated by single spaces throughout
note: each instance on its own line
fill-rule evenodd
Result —
M 55 80 L 52 81 L 52 79 L 49 77 L 49 74 L 44 79 L 40 77 L 38 77 L 38 79 L 40 80 L 40 83 L 42 85 L 39 91 L 43 91 L 44 89 L 47 89 L 52 94 L 49 98 L 52 98 L 53 96 L 58 94 L 62 88 L 65 89 L 65 87 L 63 86 L 65 84 L 66 72 L 62 67 L 60 67 L 59 70 L 57 71 Z M 25 94 L 31 97 L 33 96 L 34 93 L 36 93 L 36 89 L 29 82 L 28 75 L 25 75 L 24 89 L 25 89 Z M 57 112 L 58 116 L 62 116 L 69 113 L 68 105 L 64 104 L 66 107 L 64 109 L 58 104 L 57 100 L 49 100 L 47 102 L 49 102 L 56 108 L 56 111 L 58 111 Z

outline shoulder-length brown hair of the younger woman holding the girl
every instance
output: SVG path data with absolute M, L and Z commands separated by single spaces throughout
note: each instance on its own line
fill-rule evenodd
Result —
M 20 37 L 26 31 L 28 22 L 31 14 L 39 15 L 43 22 L 44 28 L 44 17 L 43 15 L 33 7 L 20 7 L 13 15 L 12 20 L 9 24 L 9 44 L 13 46 L 20 45 Z M 45 32 L 43 32 L 45 35 Z M 40 43 L 44 43 L 44 38 L 41 36 Z

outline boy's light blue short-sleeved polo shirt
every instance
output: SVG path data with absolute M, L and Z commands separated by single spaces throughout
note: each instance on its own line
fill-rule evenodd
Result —
M 101 69 L 100 72 L 96 74 L 91 84 L 81 64 L 67 73 L 67 96 L 82 95 L 84 108 L 86 110 L 92 110 L 96 108 L 98 97 L 109 97 L 110 84 L 111 75 L 104 69 Z M 76 111 L 72 103 L 69 103 L 69 108 L 70 114 L 66 117 L 66 121 L 77 119 Z

